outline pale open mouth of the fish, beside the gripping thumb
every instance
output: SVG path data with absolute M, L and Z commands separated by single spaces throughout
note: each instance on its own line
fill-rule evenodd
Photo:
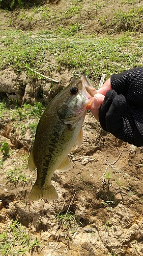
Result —
M 84 74 L 83 76 L 81 76 L 81 81 L 82 81 L 83 87 L 86 89 L 87 93 L 89 94 L 87 95 L 86 93 L 86 96 L 88 96 L 88 99 L 93 98 L 94 95 L 97 93 L 97 91 L 90 83 L 87 75 Z

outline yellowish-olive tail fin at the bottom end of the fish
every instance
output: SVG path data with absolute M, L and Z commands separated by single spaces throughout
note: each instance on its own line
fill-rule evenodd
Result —
M 33 185 L 31 190 L 29 200 L 36 201 L 40 198 L 46 198 L 48 200 L 58 199 L 58 193 L 56 192 L 54 186 L 50 184 L 47 187 L 40 188 L 36 183 Z

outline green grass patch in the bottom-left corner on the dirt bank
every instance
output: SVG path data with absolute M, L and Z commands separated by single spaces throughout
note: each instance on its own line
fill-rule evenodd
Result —
M 40 243 L 38 239 L 29 236 L 25 227 L 18 220 L 12 221 L 5 231 L 0 234 L 0 251 L 4 256 L 26 255 L 26 252 L 33 254 L 38 251 Z

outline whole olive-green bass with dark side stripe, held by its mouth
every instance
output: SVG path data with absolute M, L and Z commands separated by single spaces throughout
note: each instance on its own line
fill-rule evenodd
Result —
M 68 158 L 72 147 L 82 143 L 82 124 L 95 88 L 87 75 L 74 79 L 56 95 L 43 112 L 35 135 L 35 141 L 28 158 L 28 168 L 37 169 L 37 178 L 30 192 L 29 200 L 40 198 L 58 199 L 58 193 L 51 184 L 55 170 L 65 172 L 72 168 Z

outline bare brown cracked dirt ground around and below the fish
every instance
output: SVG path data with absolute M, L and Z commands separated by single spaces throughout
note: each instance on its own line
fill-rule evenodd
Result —
M 64 9 L 64 4 L 65 1 L 60 1 L 51 8 Z M 109 1 L 109 4 L 117 6 L 116 1 Z M 109 6 L 104 11 L 107 10 L 111 15 Z M 8 14 L 1 12 L 1 29 L 7 29 Z M 36 23 L 23 25 L 18 20 L 16 24 L 17 12 L 19 10 L 9 14 L 13 28 L 39 29 Z M 90 33 L 94 29 L 94 19 L 90 19 L 87 24 L 85 33 Z M 103 28 L 96 23 L 96 31 L 97 26 L 98 33 L 102 35 Z M 28 95 L 28 88 L 32 86 L 33 92 L 36 92 L 37 83 L 28 83 L 23 73 L 18 76 L 11 67 L 1 71 L 1 74 L 3 97 L 4 94 L 9 99 L 18 97 L 20 104 L 23 99 L 29 102 L 35 100 L 36 94 Z M 52 77 L 62 80 L 64 87 L 73 75 L 71 70 L 63 69 Z M 22 79 L 27 82 L 24 91 L 20 90 Z M 18 89 L 14 89 L 15 81 Z M 56 89 L 51 97 L 54 93 Z M 48 95 L 44 97 L 45 102 L 48 101 Z M 82 145 L 75 145 L 69 156 L 73 168 L 65 173 L 55 171 L 53 175 L 52 184 L 58 191 L 59 199 L 30 202 L 28 195 L 36 179 L 36 173 L 27 169 L 27 156 L 33 144 L 32 134 L 27 131 L 24 137 L 21 136 L 15 129 L 19 122 L 11 122 L 9 116 L 7 114 L 0 120 L 0 141 L 7 141 L 12 152 L 5 159 L 1 153 L 1 159 L 4 160 L 0 176 L 1 233 L 12 220 L 18 219 L 28 233 L 40 241 L 40 248 L 33 255 L 143 255 L 143 148 L 134 147 L 105 133 L 88 112 L 83 124 Z M 8 171 L 19 166 L 24 170 L 27 181 L 22 182 L 18 178 L 16 181 L 7 180 Z M 66 214 L 67 210 L 78 221 L 66 226 L 55 217 L 59 212 Z M 72 225 L 75 225 L 74 231 Z M 25 254 L 31 255 L 29 252 Z

